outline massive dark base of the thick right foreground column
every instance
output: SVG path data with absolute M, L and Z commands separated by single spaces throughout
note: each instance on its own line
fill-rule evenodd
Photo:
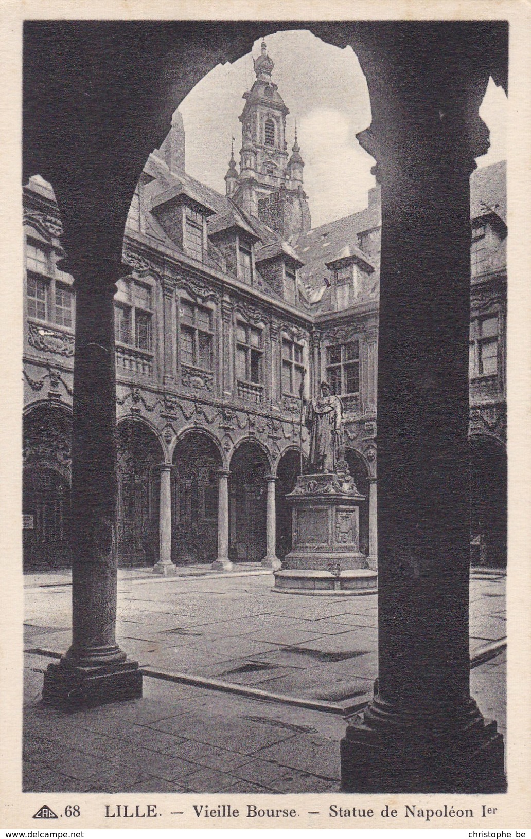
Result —
M 371 707 L 371 706 L 369 706 Z M 365 711 L 366 715 L 366 711 Z M 341 740 L 341 789 L 365 793 L 507 791 L 503 737 L 479 711 L 444 731 L 397 721 L 378 728 L 360 715 Z

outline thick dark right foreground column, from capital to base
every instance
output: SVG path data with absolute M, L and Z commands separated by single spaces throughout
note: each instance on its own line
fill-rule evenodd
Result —
M 360 136 L 381 182 L 379 679 L 341 743 L 347 791 L 505 789 L 469 685 L 469 178 L 486 129 L 482 91 L 445 69 L 395 65 Z

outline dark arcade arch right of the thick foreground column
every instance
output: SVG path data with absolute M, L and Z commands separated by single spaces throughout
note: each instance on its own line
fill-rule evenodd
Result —
M 507 451 L 494 435 L 471 435 L 471 564 L 507 565 Z

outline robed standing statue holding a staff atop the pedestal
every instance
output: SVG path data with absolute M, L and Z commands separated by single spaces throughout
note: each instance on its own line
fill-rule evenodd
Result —
M 313 472 L 336 472 L 341 445 L 341 400 L 321 383 L 318 399 L 307 404 L 305 425 L 310 432 L 310 468 Z

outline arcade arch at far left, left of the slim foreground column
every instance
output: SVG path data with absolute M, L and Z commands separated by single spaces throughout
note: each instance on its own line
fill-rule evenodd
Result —
M 24 571 L 71 563 L 71 410 L 34 403 L 23 419 Z

